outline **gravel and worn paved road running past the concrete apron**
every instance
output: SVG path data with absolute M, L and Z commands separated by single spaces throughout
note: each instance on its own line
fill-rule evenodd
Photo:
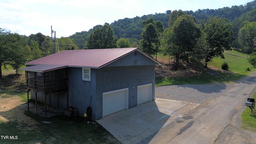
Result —
M 244 102 L 256 90 L 256 72 L 229 84 L 156 87 L 156 98 L 200 103 L 175 124 L 162 128 L 145 143 L 256 144 L 256 134 L 240 130 Z M 246 132 L 246 133 L 244 133 Z

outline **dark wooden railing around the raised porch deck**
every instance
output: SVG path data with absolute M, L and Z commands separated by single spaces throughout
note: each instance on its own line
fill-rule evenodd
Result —
M 68 89 L 68 79 L 35 80 L 34 78 L 27 78 L 26 86 L 29 89 L 41 92 L 56 92 Z

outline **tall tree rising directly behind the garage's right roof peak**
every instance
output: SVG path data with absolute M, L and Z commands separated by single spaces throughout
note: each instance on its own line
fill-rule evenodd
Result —
M 164 26 L 160 21 L 154 21 L 153 18 L 148 18 L 142 22 L 142 33 L 140 36 L 140 46 L 142 50 L 148 55 L 157 54 L 158 47 L 160 46 L 160 36 L 164 31 Z

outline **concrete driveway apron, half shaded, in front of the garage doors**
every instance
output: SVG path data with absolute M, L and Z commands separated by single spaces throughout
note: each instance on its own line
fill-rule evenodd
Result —
M 156 98 L 155 101 L 104 116 L 97 122 L 123 144 L 136 144 L 170 126 L 198 105 Z

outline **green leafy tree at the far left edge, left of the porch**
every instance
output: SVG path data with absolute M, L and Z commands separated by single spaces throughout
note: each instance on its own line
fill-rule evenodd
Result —
M 26 53 L 22 37 L 11 32 L 4 32 L 0 28 L 0 79 L 2 79 L 2 66 L 11 65 L 14 69 L 25 63 Z

